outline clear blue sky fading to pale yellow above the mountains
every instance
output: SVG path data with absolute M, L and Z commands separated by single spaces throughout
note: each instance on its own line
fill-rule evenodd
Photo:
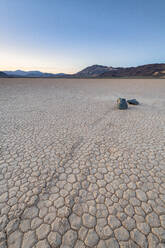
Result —
M 0 0 L 0 70 L 165 63 L 165 0 Z

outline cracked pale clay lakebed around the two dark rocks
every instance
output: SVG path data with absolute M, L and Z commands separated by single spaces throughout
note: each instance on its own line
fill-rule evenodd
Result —
M 165 80 L 0 79 L 2 247 L 165 247 Z

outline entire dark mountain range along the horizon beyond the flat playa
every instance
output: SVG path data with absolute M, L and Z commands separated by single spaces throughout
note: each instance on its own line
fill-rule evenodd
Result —
M 137 67 L 108 67 L 103 65 L 92 65 L 75 74 L 65 73 L 43 73 L 40 71 L 4 71 L 0 77 L 29 77 L 29 78 L 131 78 L 131 77 L 153 77 L 165 78 L 165 63 L 147 64 Z

